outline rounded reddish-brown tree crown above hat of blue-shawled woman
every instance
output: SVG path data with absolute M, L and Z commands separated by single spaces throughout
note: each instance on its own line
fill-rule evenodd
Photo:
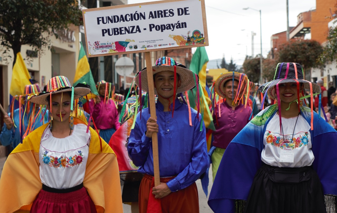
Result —
M 314 40 L 295 40 L 283 44 L 278 51 L 279 62 L 296 62 L 305 68 L 318 67 L 323 48 Z

